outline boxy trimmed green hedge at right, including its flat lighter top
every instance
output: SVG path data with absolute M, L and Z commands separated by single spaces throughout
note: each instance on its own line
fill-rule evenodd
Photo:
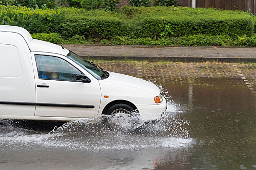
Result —
M 253 17 L 245 12 L 205 8 L 138 7 L 131 20 L 134 34 L 138 37 L 193 34 L 251 36 L 254 30 Z

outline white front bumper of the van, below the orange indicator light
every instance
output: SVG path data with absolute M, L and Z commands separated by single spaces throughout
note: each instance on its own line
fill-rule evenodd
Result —
M 167 103 L 165 98 L 160 104 L 154 105 L 136 105 L 139 110 L 140 117 L 142 120 L 155 120 L 161 119 L 161 116 L 166 111 Z

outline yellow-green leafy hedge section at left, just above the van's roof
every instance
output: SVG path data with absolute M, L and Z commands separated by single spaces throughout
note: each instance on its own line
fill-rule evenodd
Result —
M 29 33 L 58 33 L 64 11 L 0 5 L 0 24 L 20 26 Z

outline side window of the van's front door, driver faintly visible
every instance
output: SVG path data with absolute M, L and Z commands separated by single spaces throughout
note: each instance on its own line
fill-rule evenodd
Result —
M 81 74 L 77 68 L 62 58 L 35 55 L 39 79 L 76 81 L 76 74 Z

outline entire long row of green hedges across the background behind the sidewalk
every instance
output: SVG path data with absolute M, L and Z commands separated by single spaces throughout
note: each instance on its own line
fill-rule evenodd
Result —
M 63 37 L 63 41 L 73 43 L 96 41 L 102 44 L 122 44 L 120 39 L 125 37 L 126 43 L 140 45 L 225 44 L 226 40 L 217 42 L 215 36 L 220 39 L 244 37 L 236 43 L 242 46 L 254 43 L 254 40 L 250 41 L 254 20 L 253 16 L 242 11 L 213 8 L 125 6 L 119 12 L 106 12 L 77 8 L 42 10 L 0 5 L 1 24 L 21 26 L 31 34 L 57 33 Z M 46 34 L 42 35 L 44 36 Z M 205 36 L 210 39 L 205 40 Z M 200 42 L 201 39 L 204 42 Z M 210 42 L 212 40 L 214 41 Z

